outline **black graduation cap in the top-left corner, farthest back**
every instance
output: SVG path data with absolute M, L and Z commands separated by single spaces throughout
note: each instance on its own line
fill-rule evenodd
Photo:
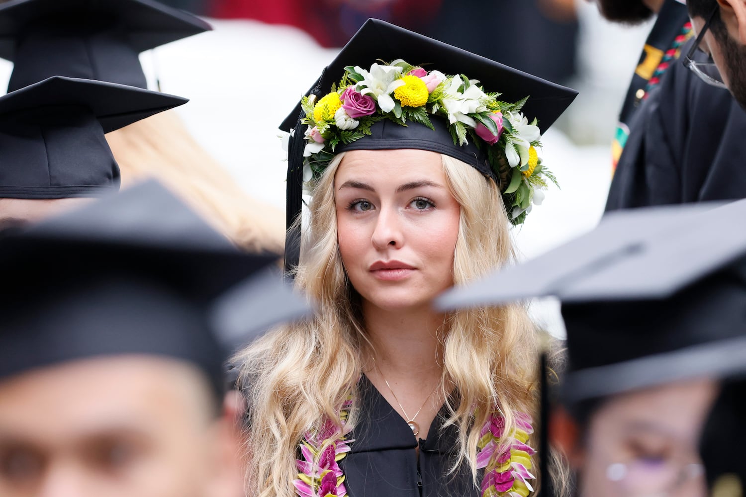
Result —
M 51 76 L 146 88 L 141 51 L 210 29 L 154 0 L 10 0 L 0 4 L 0 57 L 15 63 L 9 92 Z

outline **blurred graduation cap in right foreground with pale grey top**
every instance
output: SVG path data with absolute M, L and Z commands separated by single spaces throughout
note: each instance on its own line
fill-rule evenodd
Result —
M 568 402 L 746 369 L 746 200 L 717 205 L 615 212 L 437 305 L 558 297 Z

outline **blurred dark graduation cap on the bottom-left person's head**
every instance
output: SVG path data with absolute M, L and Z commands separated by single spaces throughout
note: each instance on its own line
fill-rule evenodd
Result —
M 271 269 L 276 259 L 240 253 L 155 182 L 7 235 L 0 379 L 93 356 L 164 355 L 200 367 L 219 392 L 231 349 L 309 310 Z

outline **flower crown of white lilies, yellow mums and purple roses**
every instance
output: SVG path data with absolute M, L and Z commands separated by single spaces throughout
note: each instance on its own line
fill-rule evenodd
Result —
M 423 124 L 434 130 L 430 115 L 448 120 L 454 145 L 474 145 L 486 153 L 499 178 L 508 217 L 523 223 L 531 205 L 544 199 L 547 180 L 557 179 L 542 165 L 541 132 L 536 119 L 529 123 L 521 113 L 528 97 L 510 103 L 500 93 L 486 93 L 478 80 L 465 75 L 448 76 L 426 71 L 404 60 L 374 63 L 369 71 L 345 67 L 345 75 L 331 92 L 301 101 L 305 131 L 304 182 L 317 179 L 334 158 L 340 144 L 347 145 L 371 134 L 383 119 L 407 126 Z

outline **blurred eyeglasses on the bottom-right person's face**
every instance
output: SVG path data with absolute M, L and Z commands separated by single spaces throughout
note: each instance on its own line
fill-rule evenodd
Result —
M 606 478 L 629 497 L 676 496 L 684 484 L 703 478 L 703 475 L 702 464 L 683 461 L 633 460 L 610 464 L 606 468 Z

